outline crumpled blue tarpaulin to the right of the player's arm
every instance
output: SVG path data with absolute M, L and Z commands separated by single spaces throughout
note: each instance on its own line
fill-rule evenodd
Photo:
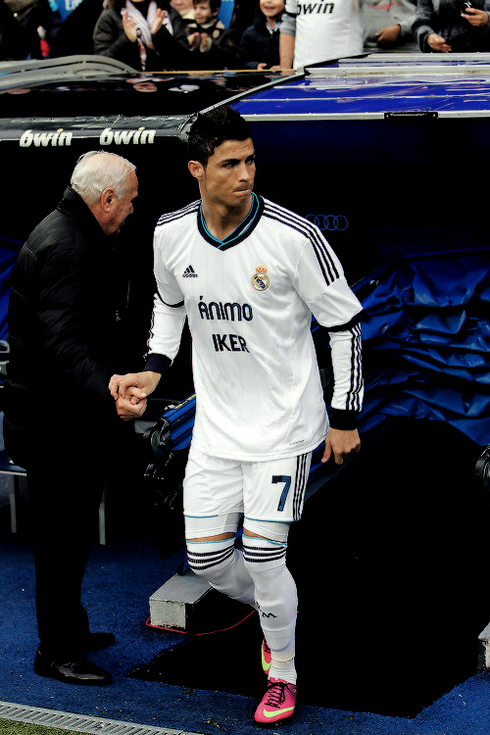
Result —
M 355 290 L 365 309 L 362 428 L 410 416 L 488 444 L 490 250 L 404 257 Z

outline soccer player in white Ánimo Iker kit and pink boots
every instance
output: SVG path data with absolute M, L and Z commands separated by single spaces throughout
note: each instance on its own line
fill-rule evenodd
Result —
M 311 452 L 338 464 L 360 446 L 361 304 L 320 230 L 253 191 L 248 123 L 224 106 L 199 114 L 188 140 L 201 199 L 155 229 L 155 297 L 145 371 L 109 388 L 138 401 L 175 358 L 187 317 L 196 416 L 184 480 L 190 567 L 259 613 L 267 691 L 255 719 L 296 702 L 296 585 L 286 567 Z M 329 419 L 311 315 L 327 328 L 335 388 Z M 235 548 L 243 520 L 242 549 Z

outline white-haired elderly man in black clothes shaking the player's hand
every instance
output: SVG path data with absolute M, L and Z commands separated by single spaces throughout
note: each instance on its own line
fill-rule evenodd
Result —
M 127 419 L 141 411 L 115 406 L 107 391 L 121 365 L 127 298 L 127 283 L 114 277 L 114 235 L 137 194 L 129 161 L 82 156 L 61 202 L 22 247 L 10 296 L 4 437 L 27 469 L 40 639 L 34 669 L 72 684 L 111 680 L 84 656 L 114 636 L 90 632 L 81 586 L 109 461 L 130 440 Z

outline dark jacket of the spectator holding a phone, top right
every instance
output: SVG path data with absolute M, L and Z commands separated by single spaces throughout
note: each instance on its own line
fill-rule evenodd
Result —
M 490 11 L 486 0 L 472 0 L 471 5 Z M 490 18 L 484 27 L 473 27 L 461 17 L 461 0 L 419 0 L 412 30 L 423 52 L 432 49 L 427 43 L 431 33 L 438 33 L 451 46 L 454 53 L 490 51 Z

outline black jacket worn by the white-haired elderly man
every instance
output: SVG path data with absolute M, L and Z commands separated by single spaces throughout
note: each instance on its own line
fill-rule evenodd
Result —
M 23 467 L 39 437 L 61 445 L 71 435 L 101 452 L 126 431 L 107 387 L 125 364 L 127 281 L 116 275 L 116 240 L 68 187 L 20 250 L 3 395 L 5 446 Z

